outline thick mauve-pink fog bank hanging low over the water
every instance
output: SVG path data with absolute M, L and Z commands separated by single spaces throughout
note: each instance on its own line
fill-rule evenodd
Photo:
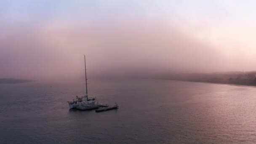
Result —
M 61 24 L 59 24 L 61 25 Z M 221 70 L 212 45 L 161 22 L 40 27 L 1 39 L 1 77 L 154 76 Z

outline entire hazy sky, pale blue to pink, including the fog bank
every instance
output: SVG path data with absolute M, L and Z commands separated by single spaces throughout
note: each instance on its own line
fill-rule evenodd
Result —
M 0 77 L 256 70 L 253 3 L 0 2 Z

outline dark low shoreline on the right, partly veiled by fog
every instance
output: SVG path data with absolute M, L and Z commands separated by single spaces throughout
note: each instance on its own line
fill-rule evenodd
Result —
M 221 83 L 232 85 L 256 86 L 256 71 L 251 72 L 214 72 L 214 73 L 183 73 L 171 75 L 170 80 Z

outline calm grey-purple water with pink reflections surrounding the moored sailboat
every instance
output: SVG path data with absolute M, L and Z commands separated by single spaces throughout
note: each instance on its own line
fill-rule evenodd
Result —
M 52 86 L 52 87 L 51 87 Z M 255 144 L 256 88 L 168 80 L 90 80 L 120 108 L 69 109 L 82 83 L 0 85 L 0 144 Z

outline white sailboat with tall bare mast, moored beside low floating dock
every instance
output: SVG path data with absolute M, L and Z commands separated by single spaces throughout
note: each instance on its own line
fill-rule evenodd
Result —
M 85 58 L 85 55 L 84 55 Z M 84 96 L 76 96 L 73 101 L 67 101 L 70 108 L 77 108 L 77 107 L 91 107 L 95 104 L 95 98 L 88 98 L 88 91 L 87 91 L 87 76 L 86 76 L 86 62 L 85 62 L 85 88 L 86 93 Z

